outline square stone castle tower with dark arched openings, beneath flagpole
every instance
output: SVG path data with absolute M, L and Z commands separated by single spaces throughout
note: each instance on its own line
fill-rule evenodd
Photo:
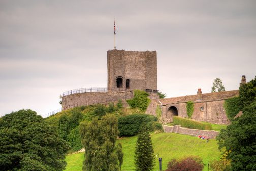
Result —
M 156 51 L 109 50 L 108 90 L 157 90 Z

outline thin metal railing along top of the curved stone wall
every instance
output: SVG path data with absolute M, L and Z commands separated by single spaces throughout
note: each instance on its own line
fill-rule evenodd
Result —
M 101 87 L 95 87 L 95 88 L 81 88 L 81 89 L 73 89 L 69 90 L 67 92 L 63 92 L 62 96 L 68 96 L 76 93 L 87 93 L 87 92 L 114 92 L 114 91 L 130 91 L 130 89 L 125 88 L 101 88 Z

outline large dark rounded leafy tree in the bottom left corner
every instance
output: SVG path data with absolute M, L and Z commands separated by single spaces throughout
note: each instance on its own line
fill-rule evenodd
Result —
M 63 170 L 69 146 L 32 110 L 19 110 L 0 119 L 1 170 Z

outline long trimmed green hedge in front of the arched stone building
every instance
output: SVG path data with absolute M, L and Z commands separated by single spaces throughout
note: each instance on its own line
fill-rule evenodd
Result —
M 199 130 L 212 130 L 212 125 L 209 123 L 201 123 L 190 119 L 184 119 L 178 116 L 173 116 L 174 125 L 181 125 L 181 127 L 187 127 L 190 129 Z

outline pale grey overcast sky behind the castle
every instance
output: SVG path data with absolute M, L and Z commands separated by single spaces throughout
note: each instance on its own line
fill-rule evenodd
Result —
M 168 97 L 256 75 L 256 1 L 0 0 L 0 115 L 59 109 L 62 92 L 107 87 L 107 51 L 157 51 Z

